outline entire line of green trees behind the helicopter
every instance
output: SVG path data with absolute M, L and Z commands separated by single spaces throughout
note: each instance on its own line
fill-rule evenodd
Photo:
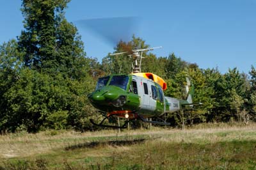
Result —
M 131 73 L 131 58 L 106 56 L 102 62 L 86 57 L 84 44 L 74 24 L 65 19 L 70 0 L 22 1 L 24 30 L 16 40 L 0 45 L 0 131 L 74 128 L 92 130 L 90 118 L 100 114 L 87 95 L 97 78 L 110 73 Z M 149 45 L 136 36 L 119 42 L 125 47 L 145 49 Z M 186 77 L 195 85 L 194 102 L 203 105 L 185 111 L 188 125 L 201 122 L 255 121 L 256 71 L 237 68 L 220 73 L 218 68 L 199 68 L 181 58 L 144 53 L 142 72 L 153 72 L 168 84 L 164 95 L 185 98 Z M 179 113 L 166 115 L 180 126 Z

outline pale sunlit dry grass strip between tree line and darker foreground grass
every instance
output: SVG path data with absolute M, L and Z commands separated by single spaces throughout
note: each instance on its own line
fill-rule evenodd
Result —
M 45 131 L 38 134 L 0 135 L 0 158 L 28 157 L 41 153 L 51 153 L 52 150 L 65 148 L 72 144 L 88 143 L 97 138 L 126 137 L 133 139 L 134 135 L 147 135 L 149 137 L 161 137 L 161 140 L 172 143 L 181 141 L 186 143 L 218 143 L 221 141 L 253 140 L 256 139 L 256 124 L 252 123 L 243 127 L 228 127 L 223 124 L 220 127 L 188 128 L 152 130 L 131 130 L 118 133 L 116 130 L 102 130 L 97 132 L 79 133 L 74 131 Z

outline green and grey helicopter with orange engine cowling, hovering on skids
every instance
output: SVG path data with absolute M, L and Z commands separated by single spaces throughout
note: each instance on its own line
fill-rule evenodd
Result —
M 141 72 L 143 52 L 159 48 L 162 47 L 110 54 L 111 56 L 127 54 L 132 58 L 132 73 L 111 74 L 98 79 L 95 91 L 88 95 L 88 99 L 93 107 L 102 112 L 105 118 L 99 124 L 90 119 L 93 125 L 109 128 L 127 128 L 128 123 L 134 120 L 157 125 L 171 125 L 171 123 L 162 120 L 159 116 L 201 104 L 193 104 L 195 88 L 188 77 L 186 77 L 187 98 L 182 100 L 164 96 L 163 91 L 167 89 L 167 84 L 161 77 L 154 73 Z M 104 124 L 104 121 L 111 117 L 124 118 L 124 125 Z M 148 118 L 157 118 L 157 121 L 151 121 Z

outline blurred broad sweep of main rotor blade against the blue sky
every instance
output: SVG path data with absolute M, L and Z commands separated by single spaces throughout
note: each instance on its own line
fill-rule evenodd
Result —
M 78 20 L 77 27 L 91 31 L 103 40 L 116 45 L 120 40 L 129 42 L 138 30 L 138 17 L 114 17 Z

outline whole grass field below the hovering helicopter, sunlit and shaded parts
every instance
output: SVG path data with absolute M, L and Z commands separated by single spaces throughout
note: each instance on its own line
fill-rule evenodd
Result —
M 0 135 L 0 169 L 256 169 L 256 124 Z

